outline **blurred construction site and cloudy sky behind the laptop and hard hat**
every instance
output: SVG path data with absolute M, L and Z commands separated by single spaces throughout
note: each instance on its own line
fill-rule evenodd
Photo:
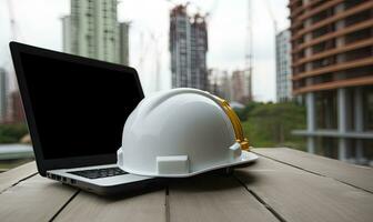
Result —
M 11 40 L 218 94 L 255 148 L 373 165 L 372 0 L 1 0 L 0 33 L 0 172 L 33 159 Z

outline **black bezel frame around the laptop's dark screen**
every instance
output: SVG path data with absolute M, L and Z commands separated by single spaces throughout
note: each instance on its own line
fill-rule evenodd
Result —
M 40 134 L 38 132 L 37 122 L 34 119 L 29 89 L 26 81 L 26 75 L 23 72 L 23 67 L 21 63 L 21 53 L 29 53 L 41 57 L 49 57 L 52 59 L 58 59 L 67 62 L 81 63 L 85 65 L 98 67 L 102 69 L 109 69 L 114 71 L 120 71 L 125 74 L 133 74 L 134 79 L 138 83 L 139 94 L 144 98 L 144 93 L 142 91 L 141 82 L 135 69 L 114 64 L 110 62 L 99 61 L 94 59 L 89 59 L 84 57 L 68 54 L 63 52 L 52 51 L 48 49 L 42 49 L 38 47 L 32 47 L 28 44 L 23 44 L 20 42 L 10 42 L 9 43 L 13 65 L 16 70 L 16 75 L 19 84 L 19 90 L 21 94 L 21 100 L 23 103 L 23 110 L 28 123 L 28 128 L 30 131 L 32 147 L 34 151 L 34 158 L 37 161 L 38 171 L 41 175 L 46 176 L 48 170 L 56 169 L 69 169 L 69 168 L 80 168 L 80 167 L 90 167 L 90 165 L 100 165 L 100 164 L 112 164 L 117 161 L 117 153 L 110 154 L 99 154 L 99 155 L 84 155 L 84 157 L 74 157 L 74 158 L 62 158 L 62 159 L 49 159 L 46 160 L 42 152 L 42 144 L 40 142 Z M 52 149 L 52 148 L 50 148 Z

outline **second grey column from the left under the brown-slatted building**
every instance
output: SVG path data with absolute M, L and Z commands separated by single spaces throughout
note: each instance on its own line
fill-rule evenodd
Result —
M 346 90 L 344 88 L 337 89 L 337 129 L 340 133 L 345 133 L 346 127 Z M 345 138 L 339 139 L 339 160 L 345 160 L 347 144 Z

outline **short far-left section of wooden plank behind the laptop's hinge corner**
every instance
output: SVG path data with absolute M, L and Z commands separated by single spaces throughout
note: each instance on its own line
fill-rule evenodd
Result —
M 34 161 L 0 173 L 0 193 L 38 172 Z

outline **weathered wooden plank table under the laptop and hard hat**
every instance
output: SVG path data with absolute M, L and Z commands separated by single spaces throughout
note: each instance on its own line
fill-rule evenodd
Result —
M 0 221 L 373 221 L 373 170 L 290 149 L 254 149 L 233 175 L 104 198 L 37 174 L 0 174 Z

